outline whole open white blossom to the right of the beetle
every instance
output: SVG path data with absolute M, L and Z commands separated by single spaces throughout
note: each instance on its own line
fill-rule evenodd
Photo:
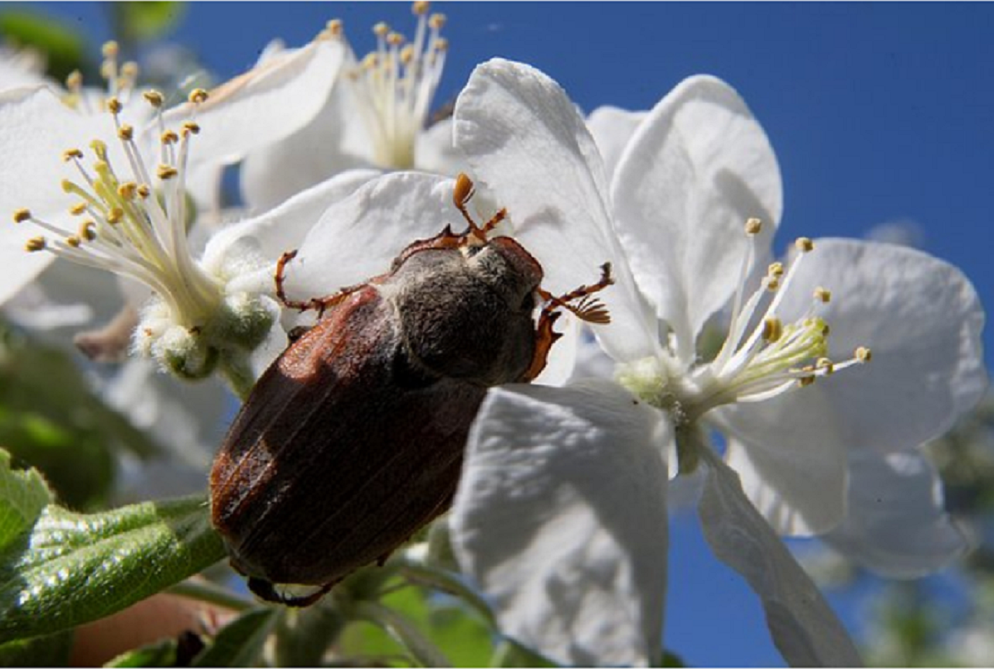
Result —
M 504 631 L 559 662 L 657 661 L 662 472 L 703 469 L 705 536 L 760 595 L 784 658 L 858 663 L 776 533 L 839 527 L 847 485 L 867 482 L 849 480 L 849 457 L 893 458 L 977 401 L 972 286 L 920 251 L 844 240 L 802 240 L 757 270 L 779 172 L 745 103 L 714 78 L 645 114 L 610 179 L 574 105 L 527 66 L 477 68 L 454 121 L 474 176 L 517 230 L 545 240 L 530 248 L 547 268 L 609 260 L 618 279 L 603 292 L 612 323 L 595 330 L 617 385 L 496 389 L 470 435 L 452 537 Z M 591 231 L 598 247 L 571 252 Z M 723 310 L 724 345 L 702 357 L 698 338 Z

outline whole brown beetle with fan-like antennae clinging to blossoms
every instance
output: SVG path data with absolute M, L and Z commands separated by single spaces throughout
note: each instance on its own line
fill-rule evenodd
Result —
M 487 238 L 505 211 L 477 226 L 470 197 L 460 174 L 464 234 L 446 227 L 329 297 L 286 299 L 295 251 L 277 263 L 279 299 L 319 320 L 259 378 L 211 471 L 214 526 L 263 599 L 306 605 L 386 560 L 450 505 L 487 389 L 543 370 L 558 309 L 608 322 L 588 297 L 611 283 L 608 264 L 597 283 L 553 296 L 531 253 Z

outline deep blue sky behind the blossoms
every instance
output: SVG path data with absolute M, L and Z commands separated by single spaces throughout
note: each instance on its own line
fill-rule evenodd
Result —
M 91 3 L 48 8 L 96 39 Z M 778 249 L 800 235 L 860 237 L 907 220 L 994 304 L 994 5 L 984 3 L 446 3 L 450 41 L 437 96 L 477 63 L 528 62 L 586 110 L 648 108 L 699 73 L 733 84 L 783 174 Z M 271 39 L 306 42 L 342 18 L 357 52 L 385 20 L 410 33 L 409 5 L 195 3 L 173 37 L 222 78 Z M 985 331 L 988 363 L 994 350 Z M 671 538 L 667 645 L 693 665 L 777 665 L 758 603 L 711 557 L 693 517 Z M 855 630 L 860 599 L 834 600 Z

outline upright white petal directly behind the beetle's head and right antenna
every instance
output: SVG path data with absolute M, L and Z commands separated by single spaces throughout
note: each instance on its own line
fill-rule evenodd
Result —
M 494 59 L 473 71 L 455 105 L 455 143 L 473 175 L 506 207 L 515 235 L 546 269 L 554 294 L 594 282 L 611 262 L 615 284 L 598 293 L 611 314 L 596 328 L 608 353 L 655 352 L 654 319 L 635 292 L 608 219 L 596 145 L 573 102 L 546 75 Z

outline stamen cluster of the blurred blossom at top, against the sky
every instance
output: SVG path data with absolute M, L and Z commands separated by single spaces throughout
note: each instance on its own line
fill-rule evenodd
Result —
M 415 2 L 417 28 L 407 42 L 386 23 L 373 28 L 377 49 L 351 73 L 373 138 L 377 162 L 388 168 L 414 167 L 414 143 L 445 65 L 448 42 L 439 36 L 445 17 L 428 16 L 428 3 Z

